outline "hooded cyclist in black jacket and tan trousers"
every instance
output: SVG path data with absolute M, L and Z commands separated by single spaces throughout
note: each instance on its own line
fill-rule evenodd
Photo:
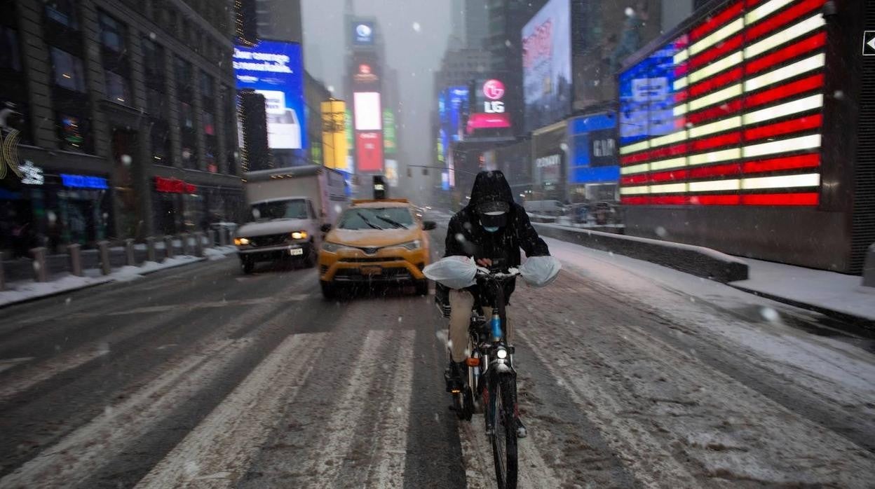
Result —
M 452 216 L 446 234 L 444 256 L 467 256 L 479 266 L 508 269 L 520 265 L 520 248 L 526 256 L 548 256 L 549 248 L 528 220 L 522 206 L 514 202 L 513 192 L 501 171 L 481 171 L 474 178 L 471 201 Z M 514 281 L 505 284 L 506 300 L 514 291 Z M 479 301 L 476 285 L 465 290 L 450 290 L 450 366 L 445 374 L 447 392 L 464 387 L 467 378 L 465 358 L 471 311 Z M 484 307 L 488 318 L 492 311 Z M 507 342 L 512 343 L 513 322 L 508 318 Z M 522 423 L 518 432 L 525 436 Z

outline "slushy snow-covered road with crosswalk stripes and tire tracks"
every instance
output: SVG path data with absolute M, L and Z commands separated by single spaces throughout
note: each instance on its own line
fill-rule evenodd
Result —
M 563 275 L 513 301 L 521 487 L 871 487 L 870 344 L 549 245 Z M 228 259 L 4 309 L 0 487 L 492 487 L 431 300 Z

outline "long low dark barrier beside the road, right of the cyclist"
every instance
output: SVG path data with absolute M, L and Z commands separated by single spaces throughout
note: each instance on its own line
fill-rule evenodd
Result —
M 670 269 L 702 276 L 721 283 L 747 280 L 748 278 L 747 263 L 711 248 L 623 234 L 600 233 L 553 224 L 532 223 L 532 225 L 542 236 L 654 262 Z

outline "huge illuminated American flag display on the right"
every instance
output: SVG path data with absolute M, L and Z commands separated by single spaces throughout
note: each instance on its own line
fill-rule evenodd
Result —
M 823 2 L 784 3 L 732 3 L 620 73 L 624 204 L 819 203 Z

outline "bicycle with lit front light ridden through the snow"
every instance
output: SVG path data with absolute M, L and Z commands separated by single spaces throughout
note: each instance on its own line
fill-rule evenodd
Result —
M 507 344 L 507 312 L 504 283 L 520 275 L 517 269 L 507 272 L 478 267 L 477 281 L 484 302 L 492 307 L 486 320 L 479 308 L 472 311 L 468 327 L 468 350 L 465 360 L 468 378 L 465 387 L 451 392 L 452 409 L 459 419 L 470 421 L 481 409 L 486 421 L 486 436 L 493 447 L 495 477 L 500 489 L 516 487 L 517 427 L 516 370 L 514 346 Z

